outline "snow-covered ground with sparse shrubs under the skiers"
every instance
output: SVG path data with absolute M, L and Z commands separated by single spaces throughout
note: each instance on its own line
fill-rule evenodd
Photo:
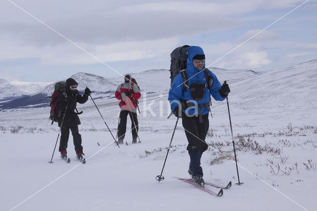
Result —
M 148 93 L 140 100 L 141 144 L 130 144 L 127 130 L 124 141 L 129 146 L 118 149 L 92 101 L 78 105 L 84 111 L 79 128 L 86 164 L 75 159 L 72 137 L 68 143 L 71 163 L 61 160 L 58 152 L 54 163 L 48 163 L 58 134 L 56 124 L 48 121 L 49 108 L 0 112 L 0 210 L 316 210 L 317 60 L 263 74 L 215 73 L 230 85 L 243 185 L 233 185 L 224 190 L 223 197 L 213 197 L 173 178 L 189 177 L 181 120 L 163 171 L 165 180 L 156 181 L 176 118 L 166 119 L 169 72 L 149 71 L 139 78 L 135 75 L 142 93 Z M 161 88 L 153 91 L 152 87 Z M 117 100 L 96 103 L 115 135 Z M 202 157 L 204 178 L 234 184 L 238 179 L 227 104 L 212 103 L 206 139 L 210 148 Z

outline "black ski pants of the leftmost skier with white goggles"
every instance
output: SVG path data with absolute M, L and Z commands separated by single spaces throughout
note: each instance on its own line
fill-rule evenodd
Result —
M 71 126 L 71 127 L 62 127 L 60 132 L 60 142 L 59 142 L 59 152 L 66 151 L 67 143 L 69 138 L 69 129 L 71 134 L 73 135 L 73 141 L 75 146 L 75 151 L 77 153 L 83 152 L 83 146 L 81 146 L 81 135 L 78 132 L 78 125 Z

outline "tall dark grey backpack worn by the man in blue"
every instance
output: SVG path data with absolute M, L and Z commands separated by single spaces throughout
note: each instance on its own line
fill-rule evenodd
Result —
M 185 71 L 187 68 L 187 57 L 188 53 L 187 50 L 190 46 L 185 45 L 178 47 L 170 53 L 170 85 L 172 86 L 173 80 L 178 73 L 181 73 L 183 79 L 183 92 L 185 91 L 186 87 L 188 87 L 188 75 Z M 211 89 L 213 78 L 209 75 L 209 70 L 205 68 L 205 77 L 208 88 Z

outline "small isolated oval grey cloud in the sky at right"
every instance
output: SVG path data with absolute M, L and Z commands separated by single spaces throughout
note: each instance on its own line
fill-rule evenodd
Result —
M 254 29 L 247 31 L 244 35 L 239 37 L 237 39 L 238 42 L 245 42 L 246 40 L 252 38 L 255 36 L 257 33 L 261 32 L 260 29 Z M 264 30 L 252 39 L 250 39 L 248 42 L 265 42 L 265 41 L 272 41 L 272 40 L 279 40 L 281 37 L 278 35 L 278 33 L 274 31 L 267 31 Z

